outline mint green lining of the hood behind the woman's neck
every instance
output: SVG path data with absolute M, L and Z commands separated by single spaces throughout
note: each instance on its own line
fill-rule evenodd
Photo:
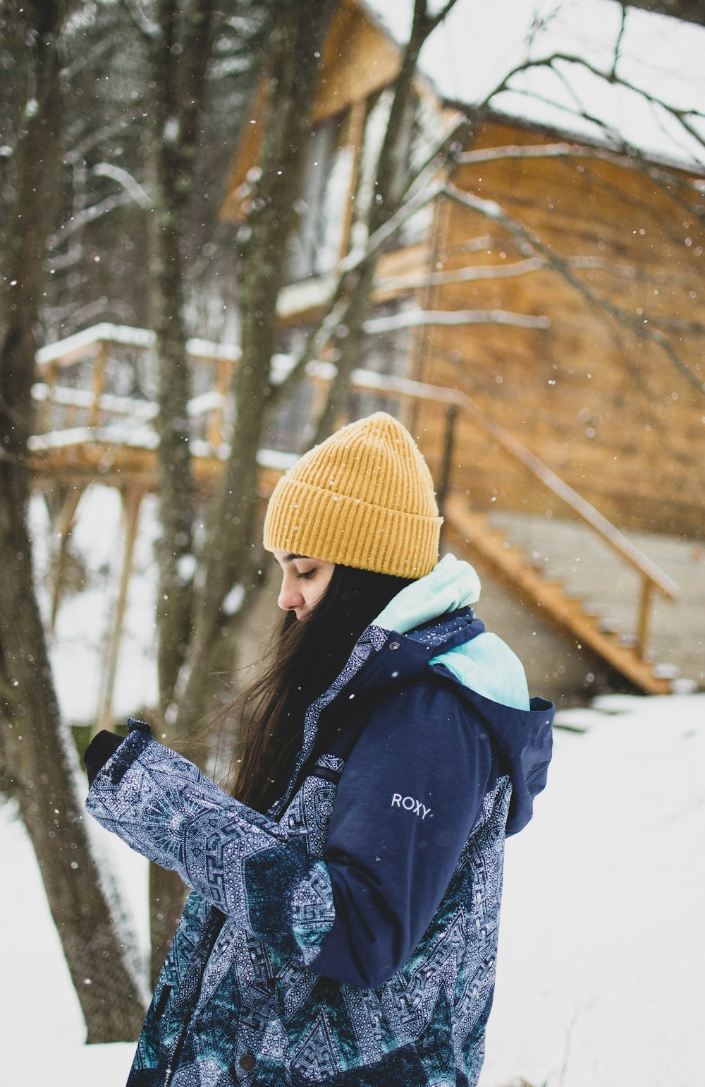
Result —
M 469 562 L 446 554 L 426 577 L 398 592 L 374 621 L 385 630 L 407 630 L 476 603 L 480 579 Z M 529 709 L 529 690 L 516 653 L 495 634 L 478 634 L 431 664 L 444 664 L 465 687 L 515 710 Z

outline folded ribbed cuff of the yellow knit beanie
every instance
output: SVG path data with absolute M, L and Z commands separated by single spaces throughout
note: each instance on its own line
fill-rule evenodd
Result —
M 417 578 L 438 561 L 442 523 L 442 517 L 373 505 L 285 475 L 269 499 L 264 546 Z

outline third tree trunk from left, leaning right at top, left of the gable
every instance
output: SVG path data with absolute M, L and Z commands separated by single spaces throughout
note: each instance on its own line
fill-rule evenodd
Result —
M 261 176 L 248 217 L 240 309 L 242 359 L 234 375 L 236 420 L 230 457 L 207 518 L 207 549 L 193 609 L 189 654 L 175 692 L 176 735 L 198 707 L 200 676 L 217 637 L 223 600 L 249 569 L 257 496 L 256 454 L 268 411 L 269 365 L 279 323 L 276 302 L 287 273 L 311 135 L 319 54 L 335 10 L 331 2 L 287 0 L 277 10 L 268 54 L 269 96 L 263 122 Z

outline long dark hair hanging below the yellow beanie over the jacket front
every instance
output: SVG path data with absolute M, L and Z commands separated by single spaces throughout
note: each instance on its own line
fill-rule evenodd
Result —
M 284 792 L 301 745 L 304 712 L 344 667 L 361 634 L 411 578 L 336 565 L 305 619 L 287 612 L 264 671 L 229 708 L 239 717 L 237 762 L 229 787 L 257 811 Z

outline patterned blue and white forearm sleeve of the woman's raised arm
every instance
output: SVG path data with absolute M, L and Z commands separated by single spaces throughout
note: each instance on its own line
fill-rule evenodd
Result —
M 303 965 L 317 953 L 333 920 L 326 865 L 312 863 L 300 834 L 228 796 L 148 725 L 130 721 L 86 808 L 272 947 Z

